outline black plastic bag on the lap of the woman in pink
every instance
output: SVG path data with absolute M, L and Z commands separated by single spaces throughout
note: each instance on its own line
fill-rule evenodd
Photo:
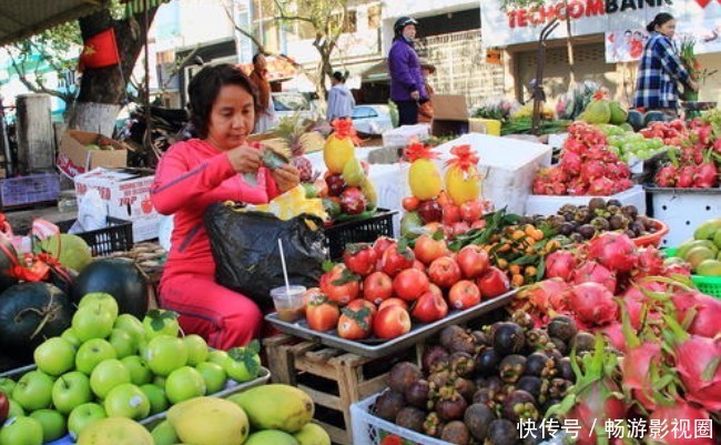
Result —
M 282 240 L 291 284 L 317 286 L 326 257 L 323 220 L 303 214 L 283 221 L 271 213 L 235 209 L 216 203 L 204 216 L 219 284 L 246 295 L 261 309 L 273 307 L 271 290 L 285 285 Z

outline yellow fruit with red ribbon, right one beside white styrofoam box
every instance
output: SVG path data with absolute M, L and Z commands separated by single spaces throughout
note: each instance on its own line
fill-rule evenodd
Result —
M 450 153 L 455 158 L 446 162 L 446 193 L 456 205 L 477 200 L 481 180 L 476 170 L 478 156 L 468 144 L 454 146 Z

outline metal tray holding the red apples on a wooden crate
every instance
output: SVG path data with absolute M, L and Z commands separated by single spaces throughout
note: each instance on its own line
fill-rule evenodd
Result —
M 498 307 L 502 307 L 514 299 L 516 292 L 518 290 L 509 291 L 464 311 L 451 311 L 446 317 L 437 322 L 414 325 L 408 333 L 387 341 L 375 337 L 364 341 L 341 338 L 336 330 L 326 332 L 313 331 L 308 327 L 305 318 L 293 323 L 284 322 L 278 318 L 275 312 L 267 314 L 265 320 L 272 323 L 278 331 L 286 334 L 317 342 L 326 346 L 337 347 L 338 350 L 352 352 L 364 357 L 378 358 L 412 347 L 448 325 L 465 323 Z

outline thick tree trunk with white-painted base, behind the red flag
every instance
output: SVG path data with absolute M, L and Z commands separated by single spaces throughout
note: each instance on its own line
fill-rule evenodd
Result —
M 152 23 L 158 8 L 148 11 L 148 24 Z M 112 134 L 112 128 L 125 98 L 125 89 L 140 51 L 148 37 L 145 13 L 123 20 L 113 20 L 110 11 L 102 10 L 79 20 L 83 41 L 108 29 L 115 30 L 121 62 L 113 67 L 87 69 L 80 82 L 80 92 L 68 127 L 103 134 Z M 99 131 L 101 130 L 101 131 Z

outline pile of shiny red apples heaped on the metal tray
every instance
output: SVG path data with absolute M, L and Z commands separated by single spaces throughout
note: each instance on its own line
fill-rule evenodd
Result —
M 328 264 L 319 287 L 304 295 L 314 331 L 337 330 L 346 340 L 389 340 L 410 331 L 412 320 L 430 323 L 509 291 L 508 277 L 477 245 L 448 251 L 443 239 L 378 239 L 348 245 L 343 263 Z

